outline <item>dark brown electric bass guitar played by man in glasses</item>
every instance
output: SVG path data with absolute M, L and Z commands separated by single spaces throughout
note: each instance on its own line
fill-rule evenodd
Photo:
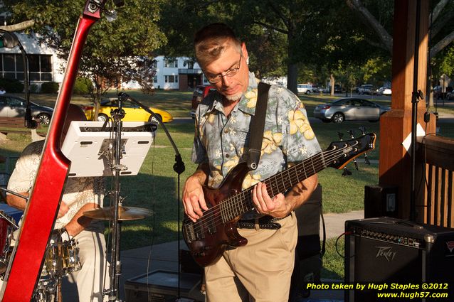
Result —
M 374 149 L 375 139 L 375 134 L 366 134 L 349 141 L 332 142 L 326 151 L 306 158 L 301 163 L 263 180 L 263 183 L 266 184 L 271 197 L 285 193 L 300 181 L 324 168 L 344 168 L 353 158 Z M 228 173 L 220 188 L 204 186 L 208 210 L 196 222 L 187 217 L 184 220 L 182 226 L 184 240 L 192 257 L 200 266 L 216 263 L 226 247 L 241 247 L 248 243 L 236 229 L 236 222 L 241 215 L 254 210 L 252 188 L 241 190 L 241 184 L 248 172 L 246 163 L 239 163 Z

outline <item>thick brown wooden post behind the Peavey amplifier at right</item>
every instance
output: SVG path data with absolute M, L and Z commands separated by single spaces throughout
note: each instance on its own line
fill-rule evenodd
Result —
M 394 1 L 394 33 L 393 33 L 393 66 L 391 111 L 380 120 L 380 163 L 379 185 L 398 186 L 398 217 L 410 217 L 411 198 L 411 158 L 403 147 L 402 142 L 411 134 L 411 95 L 413 92 L 413 55 L 416 29 L 416 1 Z M 419 28 L 419 58 L 418 58 L 418 90 L 426 95 L 427 55 L 428 55 L 428 1 L 421 1 L 421 21 Z M 426 105 L 424 100 L 418 103 L 418 124 L 428 132 L 435 132 L 435 116 L 431 121 L 424 122 Z M 421 165 L 416 167 L 420 169 Z M 417 216 L 419 215 L 425 186 L 421 183 L 421 171 L 416 173 Z

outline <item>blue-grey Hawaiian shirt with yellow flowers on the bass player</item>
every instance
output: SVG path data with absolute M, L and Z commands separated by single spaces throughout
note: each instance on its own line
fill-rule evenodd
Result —
M 208 162 L 208 186 L 218 188 L 238 163 L 247 161 L 250 119 L 255 113 L 258 82 L 249 73 L 246 93 L 230 117 L 223 112 L 222 95 L 211 92 L 196 110 L 196 135 L 192 150 L 194 163 Z M 265 129 L 258 168 L 243 180 L 243 189 L 283 171 L 321 151 L 309 124 L 304 105 L 290 90 L 272 85 L 268 92 Z

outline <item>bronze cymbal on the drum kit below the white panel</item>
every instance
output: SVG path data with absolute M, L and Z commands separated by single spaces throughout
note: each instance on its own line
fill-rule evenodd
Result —
M 84 216 L 99 220 L 110 220 L 114 218 L 115 209 L 113 207 L 103 207 L 99 209 L 83 212 Z M 152 215 L 152 211 L 143 207 L 118 207 L 118 220 L 139 220 Z

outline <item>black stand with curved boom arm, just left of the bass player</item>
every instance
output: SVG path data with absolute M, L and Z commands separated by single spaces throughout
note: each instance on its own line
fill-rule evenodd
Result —
M 152 114 L 152 117 L 154 117 L 155 119 L 157 119 L 157 121 L 159 122 L 159 124 L 162 126 L 162 129 L 164 129 L 164 132 L 166 133 L 167 135 L 167 138 L 169 139 L 170 141 L 170 144 L 171 146 L 174 148 L 174 151 L 175 151 L 175 163 L 174 163 L 174 171 L 178 174 L 178 195 L 179 195 L 179 191 L 180 191 L 180 174 L 184 172 L 184 162 L 183 160 L 181 159 L 181 154 L 179 153 L 178 149 L 176 148 L 176 145 L 175 145 L 175 142 L 174 140 L 171 138 L 170 134 L 169 134 L 169 131 L 167 131 L 167 128 L 166 126 L 164 126 L 164 123 L 162 122 L 161 119 L 159 119 L 159 117 L 157 117 L 157 115 L 152 111 L 152 109 L 149 109 L 149 107 L 145 106 L 144 104 L 142 104 L 141 102 L 137 101 L 137 99 L 133 99 L 132 97 L 130 97 L 130 95 L 127 95 L 127 93 L 125 92 L 120 92 L 118 94 L 118 100 L 120 102 L 120 99 L 122 99 L 123 101 L 127 101 L 127 100 L 130 100 L 130 102 L 134 103 L 134 104 L 137 104 L 139 107 L 141 107 L 142 109 L 144 109 L 146 112 L 148 112 L 149 114 Z M 181 212 L 181 200 L 178 200 L 178 208 L 177 208 L 177 211 L 178 211 L 178 239 L 176 240 L 177 242 L 177 249 L 178 249 L 178 292 L 177 292 L 177 299 L 176 301 L 180 301 L 180 281 L 181 281 L 181 276 L 180 276 L 180 267 L 181 267 L 181 253 L 180 253 L 180 212 Z

